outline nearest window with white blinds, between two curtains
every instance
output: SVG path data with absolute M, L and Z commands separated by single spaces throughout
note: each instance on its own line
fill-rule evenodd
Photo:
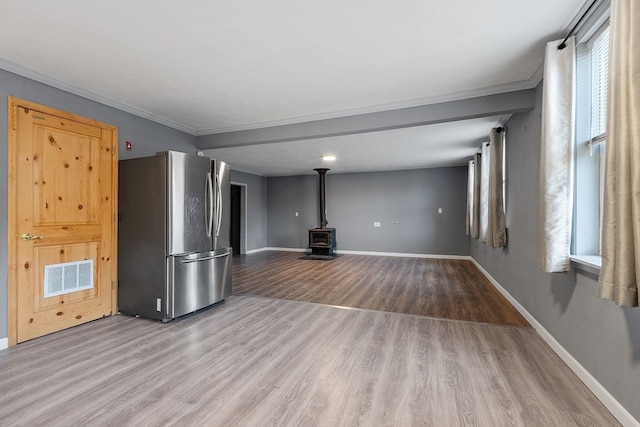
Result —
M 608 83 L 609 26 L 605 24 L 577 49 L 576 255 L 600 255 Z

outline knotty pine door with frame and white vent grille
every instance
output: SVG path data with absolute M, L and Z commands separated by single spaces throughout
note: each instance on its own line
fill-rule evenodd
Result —
M 117 128 L 9 98 L 9 344 L 116 312 Z

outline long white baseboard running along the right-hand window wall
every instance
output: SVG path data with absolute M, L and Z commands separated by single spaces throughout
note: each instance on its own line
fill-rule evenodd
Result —
M 640 427 L 640 422 L 627 411 L 624 406 L 614 398 L 593 375 L 587 371 L 562 345 L 547 331 L 535 317 L 531 315 L 497 280 L 495 280 L 487 270 L 485 270 L 474 258 L 470 257 L 476 267 L 489 279 L 493 286 L 524 316 L 525 319 L 540 334 L 542 339 L 551 349 L 567 364 L 580 380 L 591 390 L 591 392 L 602 402 L 602 404 L 613 414 L 614 417 L 625 427 Z

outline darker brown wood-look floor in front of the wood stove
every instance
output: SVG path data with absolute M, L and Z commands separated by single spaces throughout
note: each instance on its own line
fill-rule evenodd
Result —
M 234 293 L 529 326 L 469 260 L 341 255 L 318 261 L 302 256 L 275 251 L 235 256 Z

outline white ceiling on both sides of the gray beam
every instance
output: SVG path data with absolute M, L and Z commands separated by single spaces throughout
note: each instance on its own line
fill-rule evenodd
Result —
M 207 135 L 534 87 L 585 2 L 0 0 L 0 67 Z M 336 171 L 461 164 L 498 120 L 208 153 L 267 176 L 327 151 Z

